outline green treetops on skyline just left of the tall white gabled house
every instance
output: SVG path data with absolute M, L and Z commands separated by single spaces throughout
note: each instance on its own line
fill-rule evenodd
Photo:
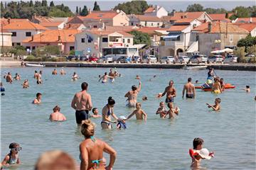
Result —
M 122 10 L 127 14 L 137 14 L 142 15 L 147 8 L 149 8 L 149 4 L 146 1 L 127 1 L 122 4 L 118 4 L 114 6 L 114 10 Z

